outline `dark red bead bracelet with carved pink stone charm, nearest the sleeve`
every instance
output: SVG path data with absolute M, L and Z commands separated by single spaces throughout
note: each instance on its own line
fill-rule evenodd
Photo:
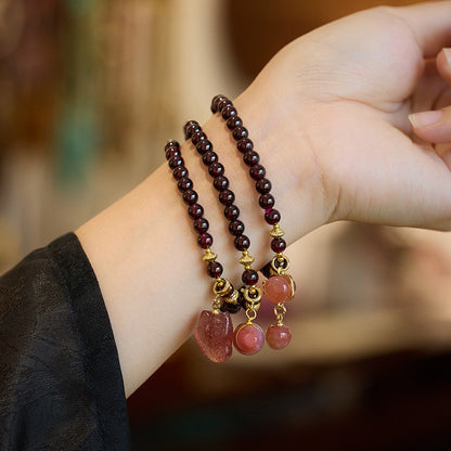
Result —
M 172 177 L 182 193 L 183 202 L 188 205 L 188 215 L 193 220 L 193 227 L 198 234 L 197 245 L 205 252 L 203 260 L 207 263 L 207 274 L 215 279 L 212 309 L 201 312 L 194 335 L 199 348 L 209 360 L 223 363 L 232 356 L 233 325 L 230 313 L 220 309 L 224 299 L 228 302 L 233 300 L 237 302 L 239 293 L 227 279 L 221 276 L 222 265 L 216 261 L 217 255 L 210 248 L 212 236 L 208 233 L 209 223 L 204 217 L 204 208 L 197 202 L 198 195 L 184 166 L 180 144 L 177 141 L 169 141 L 165 145 L 165 152 L 168 166 L 172 169 Z

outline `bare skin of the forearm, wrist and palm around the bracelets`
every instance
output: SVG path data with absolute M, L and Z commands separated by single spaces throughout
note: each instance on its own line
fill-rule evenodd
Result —
M 409 123 L 410 114 L 449 99 L 439 53 L 451 46 L 449 17 L 450 1 L 345 17 L 280 51 L 235 100 L 288 243 L 343 219 L 451 228 L 448 151 L 427 144 L 433 136 L 424 130 L 414 129 L 423 141 L 414 138 Z M 429 62 L 436 57 L 439 69 Z M 227 168 L 259 268 L 271 252 L 253 183 L 218 115 L 204 130 Z M 240 255 L 210 179 L 190 145 L 182 155 L 211 224 L 212 249 L 237 283 Z M 203 254 L 166 165 L 76 233 L 99 279 L 128 396 L 210 307 Z

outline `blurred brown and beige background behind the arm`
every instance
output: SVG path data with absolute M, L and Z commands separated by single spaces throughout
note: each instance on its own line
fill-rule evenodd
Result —
M 285 43 L 376 4 L 0 0 L 0 270 L 132 189 Z M 338 223 L 287 254 L 292 345 L 215 365 L 186 343 L 129 399 L 133 449 L 451 449 L 450 236 Z

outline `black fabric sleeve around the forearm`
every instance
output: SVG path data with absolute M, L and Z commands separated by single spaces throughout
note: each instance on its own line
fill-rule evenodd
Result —
M 0 278 L 0 450 L 129 450 L 124 383 L 75 234 Z

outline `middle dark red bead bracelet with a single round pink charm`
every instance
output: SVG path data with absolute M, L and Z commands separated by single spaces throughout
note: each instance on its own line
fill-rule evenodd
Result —
M 208 173 L 214 179 L 214 186 L 218 191 L 219 202 L 226 208 L 234 205 L 235 195 L 229 186 L 229 180 L 224 176 L 224 167 L 219 162 L 218 154 L 214 151 L 212 143 L 202 130 L 199 124 L 190 120 L 183 127 L 186 140 L 191 140 L 197 153 L 202 156 L 205 166 L 208 167 Z M 252 269 L 254 258 L 249 255 L 248 248 L 250 240 L 244 235 L 244 223 L 239 219 L 240 209 L 236 207 L 236 216 L 229 221 L 229 232 L 234 236 L 234 246 L 242 252 L 239 262 L 243 265 L 244 271 L 242 281 L 245 284 L 240 288 L 240 302 L 231 304 L 227 299 L 222 305 L 222 309 L 235 313 L 241 305 L 246 309 L 247 321 L 236 326 L 233 344 L 236 350 L 245 356 L 257 353 L 265 344 L 265 334 L 262 328 L 254 323 L 257 318 L 257 311 L 260 308 L 262 291 L 257 286 L 258 273 Z M 224 215 L 227 210 L 224 210 Z M 227 215 L 226 215 L 227 217 Z

